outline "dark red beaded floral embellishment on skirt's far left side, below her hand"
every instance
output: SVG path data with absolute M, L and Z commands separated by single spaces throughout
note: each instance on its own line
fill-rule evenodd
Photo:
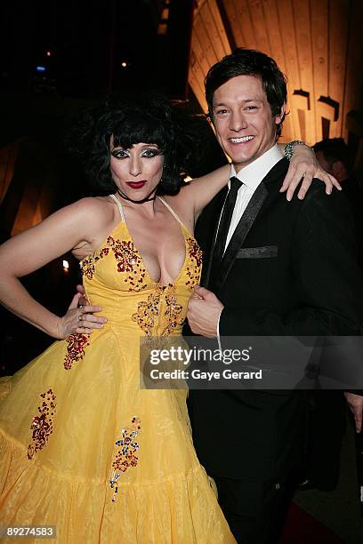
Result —
M 53 431 L 52 416 L 56 412 L 54 402 L 56 396 L 52 389 L 48 389 L 46 393 L 42 393 L 40 396 L 44 400 L 42 405 L 38 406 L 40 415 L 34 416 L 33 423 L 30 426 L 30 430 L 33 431 L 33 443 L 28 445 L 28 459 L 32 459 L 35 453 L 43 450 Z

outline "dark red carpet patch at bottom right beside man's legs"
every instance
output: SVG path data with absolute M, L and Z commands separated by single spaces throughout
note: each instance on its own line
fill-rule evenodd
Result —
M 320 524 L 303 508 L 292 504 L 280 544 L 344 544 L 343 540 Z

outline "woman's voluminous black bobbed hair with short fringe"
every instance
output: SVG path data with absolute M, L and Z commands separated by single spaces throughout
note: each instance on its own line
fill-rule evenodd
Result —
M 159 195 L 179 192 L 192 152 L 198 148 L 197 135 L 187 117 L 156 92 L 103 100 L 85 111 L 74 129 L 71 140 L 76 144 L 72 150 L 84 163 L 93 188 L 105 192 L 117 189 L 109 169 L 111 137 L 114 147 L 149 143 L 162 151 L 164 170 L 157 187 Z

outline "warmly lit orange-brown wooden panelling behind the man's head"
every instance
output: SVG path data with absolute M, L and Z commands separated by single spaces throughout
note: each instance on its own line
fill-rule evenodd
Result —
M 287 76 L 283 139 L 347 139 L 347 115 L 363 106 L 361 20 L 361 0 L 198 0 L 190 84 L 199 100 L 207 69 L 230 46 L 258 49 Z

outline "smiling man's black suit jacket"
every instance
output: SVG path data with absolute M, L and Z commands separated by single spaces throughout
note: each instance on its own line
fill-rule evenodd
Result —
M 221 335 L 356 335 L 363 330 L 362 279 L 348 203 L 314 180 L 303 201 L 279 193 L 286 159 L 262 180 L 238 224 L 222 265 L 208 270 L 224 188 L 197 230 L 204 276 L 225 308 Z M 211 228 L 214 226 L 214 228 Z M 203 284 L 203 282 L 202 282 Z M 200 462 L 214 476 L 274 480 L 303 453 L 302 391 L 190 391 L 190 419 Z

